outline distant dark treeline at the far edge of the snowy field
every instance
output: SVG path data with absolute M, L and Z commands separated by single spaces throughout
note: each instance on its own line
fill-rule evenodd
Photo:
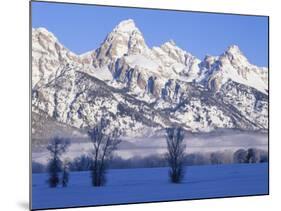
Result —
M 268 162 L 268 152 L 256 148 L 239 149 L 230 152 L 212 152 L 212 153 L 191 153 L 184 157 L 184 165 L 213 165 L 213 164 L 232 164 L 232 163 L 264 163 Z M 92 169 L 92 158 L 87 155 L 81 155 L 69 162 L 70 171 L 89 171 Z M 164 155 L 153 155 L 147 157 L 132 157 L 123 159 L 113 157 L 108 168 L 152 168 L 167 167 L 167 159 Z M 37 162 L 32 162 L 33 173 L 46 172 L 46 166 Z

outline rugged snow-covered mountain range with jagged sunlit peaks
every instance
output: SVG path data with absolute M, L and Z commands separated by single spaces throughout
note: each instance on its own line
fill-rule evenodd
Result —
M 78 129 L 104 116 L 128 136 L 172 125 L 199 132 L 267 129 L 268 69 L 250 64 L 235 45 L 203 61 L 172 40 L 149 48 L 130 19 L 82 55 L 38 28 L 32 30 L 32 109 Z

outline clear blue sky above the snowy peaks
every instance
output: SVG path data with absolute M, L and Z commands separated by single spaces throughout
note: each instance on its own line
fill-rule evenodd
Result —
M 168 40 L 199 59 L 238 45 L 249 61 L 268 65 L 267 17 L 32 2 L 32 27 L 45 27 L 71 51 L 96 49 L 122 20 L 133 19 L 149 47 Z

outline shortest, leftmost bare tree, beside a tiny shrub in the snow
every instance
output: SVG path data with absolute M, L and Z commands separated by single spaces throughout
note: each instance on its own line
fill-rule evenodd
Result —
M 70 142 L 68 139 L 54 137 L 47 146 L 47 150 L 51 154 L 51 158 L 48 163 L 48 183 L 50 187 L 57 187 L 60 182 L 59 172 L 62 170 L 62 161 L 60 156 L 67 150 L 69 144 Z

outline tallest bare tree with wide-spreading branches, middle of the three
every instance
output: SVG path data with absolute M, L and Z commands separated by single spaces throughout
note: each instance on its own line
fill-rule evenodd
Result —
M 104 118 L 91 130 L 88 135 L 93 144 L 92 185 L 103 186 L 106 183 L 107 161 L 120 143 L 119 131 L 114 129 L 110 134 L 106 132 L 109 122 Z

